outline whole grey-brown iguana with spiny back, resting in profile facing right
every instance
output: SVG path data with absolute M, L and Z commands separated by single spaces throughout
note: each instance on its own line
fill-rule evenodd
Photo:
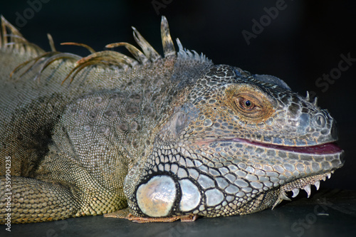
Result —
M 67 43 L 88 48 L 82 58 L 1 27 L 1 223 L 251 214 L 309 196 L 344 163 L 316 100 L 178 39 L 175 51 L 164 17 L 164 57 L 135 28 L 141 50 Z

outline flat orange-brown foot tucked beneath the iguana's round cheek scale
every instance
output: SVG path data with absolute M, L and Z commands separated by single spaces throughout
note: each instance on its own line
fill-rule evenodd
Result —
M 183 216 L 170 216 L 170 217 L 140 217 L 140 216 L 134 216 L 130 214 L 130 209 L 126 208 L 126 209 L 114 211 L 109 214 L 104 214 L 104 217 L 124 218 L 132 222 L 149 223 L 149 222 L 173 222 L 179 219 L 184 222 L 190 222 L 190 221 L 197 220 L 198 215 L 188 214 Z

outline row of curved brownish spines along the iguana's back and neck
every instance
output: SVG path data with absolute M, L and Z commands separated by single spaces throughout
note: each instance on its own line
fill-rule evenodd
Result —
M 19 75 L 19 78 L 21 78 L 21 76 L 27 73 L 29 70 L 41 64 L 41 67 L 39 68 L 38 73 L 36 73 L 36 76 L 34 78 L 34 80 L 39 81 L 41 73 L 43 72 L 43 70 L 45 70 L 48 67 L 48 65 L 51 65 L 51 63 L 55 62 L 56 60 L 66 59 L 66 60 L 73 61 L 73 68 L 72 70 L 70 70 L 70 73 L 68 73 L 66 78 L 63 80 L 63 83 L 68 78 L 70 78 L 70 82 L 71 82 L 75 78 L 75 75 L 78 75 L 78 73 L 80 73 L 81 70 L 83 70 L 84 68 L 90 65 L 93 66 L 101 65 L 101 66 L 108 66 L 108 67 L 114 66 L 115 68 L 126 70 L 127 68 L 135 68 L 137 65 L 146 65 L 148 63 L 153 63 L 159 59 L 162 59 L 159 53 L 155 51 L 155 48 L 153 48 L 150 45 L 150 43 L 148 43 L 145 40 L 145 38 L 141 36 L 141 34 L 136 30 L 136 28 L 132 27 L 132 29 L 133 29 L 133 37 L 135 38 L 137 45 L 140 46 L 141 51 L 135 46 L 132 46 L 130 43 L 125 43 L 125 42 L 110 43 L 105 47 L 115 48 L 119 46 L 124 46 L 125 48 L 127 48 L 127 51 L 129 51 L 132 54 L 133 58 L 129 56 L 125 56 L 124 54 L 118 53 L 116 51 L 95 52 L 93 48 L 83 43 L 73 43 L 73 42 L 61 43 L 62 45 L 82 46 L 84 48 L 87 48 L 88 51 L 90 52 L 90 55 L 82 58 L 73 53 L 60 53 L 56 51 L 56 48 L 53 43 L 53 39 L 49 34 L 48 34 L 48 41 L 51 46 L 51 51 L 50 52 L 43 51 L 40 47 L 26 41 L 26 39 L 23 38 L 21 33 L 19 33 L 19 31 L 14 26 L 12 26 L 11 23 L 6 21 L 6 19 L 4 19 L 4 17 L 1 16 L 2 33 L 0 37 L 0 48 L 18 48 L 18 49 L 22 48 L 24 51 L 32 51 L 36 53 L 34 58 L 24 63 L 21 63 L 21 65 L 17 66 L 12 71 L 10 75 L 11 77 L 14 74 L 19 73 L 21 71 L 21 75 Z M 162 21 L 161 21 L 161 37 L 162 37 L 164 58 L 177 56 L 179 60 L 197 60 L 199 61 L 199 63 L 209 63 L 209 64 L 211 63 L 211 61 L 207 59 L 202 53 L 201 56 L 199 56 L 199 54 L 196 51 L 189 51 L 183 48 L 182 43 L 180 43 L 178 38 L 177 38 L 177 45 L 179 51 L 177 53 L 174 49 L 174 43 L 169 33 L 169 26 L 168 26 L 167 19 L 164 16 L 162 16 Z

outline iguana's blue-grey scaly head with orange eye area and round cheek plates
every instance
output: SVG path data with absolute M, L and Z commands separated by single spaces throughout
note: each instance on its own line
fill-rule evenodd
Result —
M 342 167 L 335 120 L 316 100 L 229 65 L 206 63 L 189 78 L 184 62 L 194 57 L 178 54 L 169 117 L 126 177 L 134 214 L 253 213 L 289 200 L 288 191 L 309 196 L 310 185 Z

